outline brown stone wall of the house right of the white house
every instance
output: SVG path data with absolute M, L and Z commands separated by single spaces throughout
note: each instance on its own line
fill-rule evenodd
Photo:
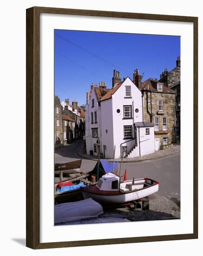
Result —
M 151 104 L 147 112 L 147 94 L 148 98 L 151 98 Z M 174 126 L 176 126 L 176 94 L 175 93 L 161 93 L 150 92 L 144 90 L 144 121 L 151 121 L 155 124 L 155 116 L 159 117 L 159 131 L 155 131 L 155 138 L 160 138 L 160 145 L 163 148 L 163 137 L 168 137 L 168 143 L 176 141 L 176 134 L 174 132 Z M 162 99 L 164 102 L 164 111 L 158 111 L 157 99 Z M 152 118 L 151 118 L 152 113 Z M 167 131 L 163 131 L 163 117 L 167 117 Z

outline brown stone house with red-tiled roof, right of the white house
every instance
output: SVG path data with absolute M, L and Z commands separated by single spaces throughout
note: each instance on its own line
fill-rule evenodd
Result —
M 135 73 L 139 75 L 138 71 Z M 137 79 L 136 86 L 143 94 L 144 121 L 150 121 L 155 126 L 155 150 L 168 147 L 176 142 L 176 93 L 164 83 L 151 78 L 143 83 Z

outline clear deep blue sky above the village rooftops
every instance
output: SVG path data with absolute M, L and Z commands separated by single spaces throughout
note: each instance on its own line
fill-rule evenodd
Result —
M 113 69 L 133 77 L 134 69 L 160 78 L 164 68 L 176 67 L 180 56 L 180 37 L 54 30 L 55 94 L 85 104 L 90 85 L 106 82 L 112 86 Z

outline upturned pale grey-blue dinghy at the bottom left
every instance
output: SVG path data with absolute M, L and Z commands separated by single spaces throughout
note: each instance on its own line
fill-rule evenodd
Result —
M 79 202 L 66 202 L 54 206 L 55 225 L 103 214 L 103 208 L 92 198 Z

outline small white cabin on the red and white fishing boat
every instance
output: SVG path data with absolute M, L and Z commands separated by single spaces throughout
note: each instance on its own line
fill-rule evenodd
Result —
M 97 182 L 96 186 L 100 190 L 105 191 L 118 191 L 120 177 L 114 173 L 103 175 Z

